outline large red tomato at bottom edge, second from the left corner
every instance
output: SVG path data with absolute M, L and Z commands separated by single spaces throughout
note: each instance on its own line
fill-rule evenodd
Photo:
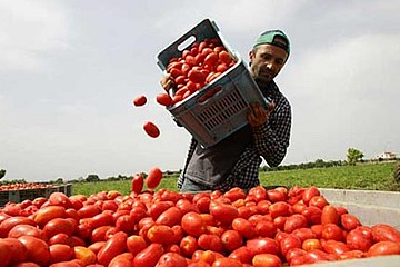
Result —
M 27 260 L 40 266 L 47 266 L 50 263 L 51 255 L 46 241 L 33 236 L 21 236 L 18 240 L 27 248 Z

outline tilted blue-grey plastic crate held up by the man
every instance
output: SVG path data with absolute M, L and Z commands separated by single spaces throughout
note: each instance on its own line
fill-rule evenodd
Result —
M 210 147 L 248 123 L 251 102 L 267 107 L 269 102 L 252 79 L 238 52 L 231 49 L 217 24 L 204 19 L 158 55 L 158 65 L 166 70 L 171 58 L 180 57 L 184 49 L 207 38 L 217 38 L 236 60 L 236 65 L 209 85 L 167 110 L 203 147 Z M 188 40 L 192 42 L 188 43 Z M 182 44 L 188 43 L 186 47 Z M 216 92 L 212 95 L 212 92 Z M 209 97 L 212 95 L 211 97 Z

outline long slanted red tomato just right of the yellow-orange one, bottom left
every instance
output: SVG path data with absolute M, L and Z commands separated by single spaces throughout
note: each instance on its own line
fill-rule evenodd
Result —
M 128 235 L 123 231 L 116 233 L 97 255 L 98 263 L 107 266 L 113 257 L 127 250 Z

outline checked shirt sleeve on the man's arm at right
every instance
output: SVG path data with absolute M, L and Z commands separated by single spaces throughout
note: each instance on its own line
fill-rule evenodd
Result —
M 254 148 L 270 167 L 280 165 L 289 147 L 291 108 L 288 101 L 271 113 L 269 121 L 253 128 Z

